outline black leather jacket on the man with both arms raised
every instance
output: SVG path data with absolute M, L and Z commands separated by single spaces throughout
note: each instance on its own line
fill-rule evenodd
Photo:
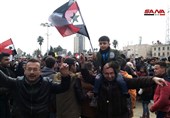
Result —
M 0 71 L 0 85 L 12 90 L 14 118 L 49 118 L 51 93 L 61 93 L 69 88 L 70 77 L 62 77 L 61 84 L 52 83 L 40 76 L 36 84 L 28 84 L 25 77 L 11 78 Z

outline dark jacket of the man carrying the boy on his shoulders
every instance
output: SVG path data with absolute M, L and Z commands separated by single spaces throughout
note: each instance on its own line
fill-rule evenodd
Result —
M 154 84 L 151 78 L 125 79 L 128 89 L 136 89 Z M 122 94 L 116 81 L 104 80 L 98 96 L 98 118 L 129 118 L 127 96 Z

